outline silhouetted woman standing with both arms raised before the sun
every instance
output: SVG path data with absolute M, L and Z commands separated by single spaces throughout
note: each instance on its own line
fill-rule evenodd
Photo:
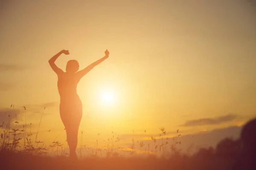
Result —
M 55 60 L 61 54 L 69 54 L 68 50 L 62 50 L 49 59 L 52 70 L 58 75 L 58 92 L 60 94 L 60 115 L 67 133 L 67 143 L 70 148 L 70 157 L 77 158 L 76 146 L 78 138 L 79 124 L 82 118 L 82 103 L 76 93 L 78 82 L 96 65 L 108 58 L 109 52 L 105 51 L 105 57 L 93 62 L 81 71 L 79 63 L 76 60 L 67 62 L 66 72 L 55 65 Z

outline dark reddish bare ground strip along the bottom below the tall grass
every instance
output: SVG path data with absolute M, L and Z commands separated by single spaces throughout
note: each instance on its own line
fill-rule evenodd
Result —
M 2 150 L 0 161 L 3 170 L 230 170 L 235 159 L 214 155 L 191 157 L 174 155 L 168 159 L 154 156 L 144 158 L 111 156 L 87 157 L 76 161 L 63 156 L 38 156 Z

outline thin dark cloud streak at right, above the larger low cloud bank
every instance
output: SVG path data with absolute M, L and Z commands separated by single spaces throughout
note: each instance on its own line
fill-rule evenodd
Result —
M 223 122 L 229 122 L 236 118 L 235 114 L 228 114 L 225 116 L 219 116 L 216 118 L 203 118 L 203 119 L 194 119 L 185 122 L 181 126 L 201 126 L 201 125 L 218 125 Z

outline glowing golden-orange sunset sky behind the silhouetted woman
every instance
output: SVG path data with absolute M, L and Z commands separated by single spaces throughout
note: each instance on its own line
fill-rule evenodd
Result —
M 246 0 L 0 0 L 0 124 L 17 113 L 23 125 L 26 106 L 36 130 L 46 107 L 40 140 L 64 142 L 48 60 L 69 50 L 56 65 L 82 69 L 108 49 L 77 89 L 85 143 L 242 125 L 256 115 L 255 30 Z

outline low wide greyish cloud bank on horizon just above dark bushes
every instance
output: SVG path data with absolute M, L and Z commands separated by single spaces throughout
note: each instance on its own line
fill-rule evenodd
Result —
M 204 131 L 204 132 L 198 132 L 195 134 L 187 134 L 187 135 L 183 135 L 181 133 L 181 136 L 179 136 L 177 138 L 177 141 L 181 142 L 181 144 L 177 144 L 177 149 L 181 150 L 183 153 L 194 153 L 195 151 L 198 150 L 198 148 L 201 147 L 215 147 L 216 144 L 218 144 L 218 142 L 220 142 L 222 139 L 225 139 L 227 137 L 233 137 L 233 139 L 237 139 L 240 135 L 241 132 L 241 127 L 238 126 L 230 126 L 230 127 L 225 127 L 225 128 L 220 128 L 220 129 L 214 129 L 211 131 Z M 145 150 L 145 148 L 148 148 L 149 146 L 149 150 L 154 150 L 154 141 L 151 139 L 146 139 L 144 134 L 138 134 L 134 137 L 129 136 L 128 134 L 125 135 L 125 137 L 130 138 L 129 140 L 124 140 L 124 136 L 119 136 L 122 144 L 125 146 L 125 148 L 129 148 L 131 147 L 132 143 L 132 138 L 134 138 L 134 142 L 135 142 L 135 148 L 136 149 L 141 149 L 141 150 Z M 156 145 L 160 146 L 160 144 L 162 144 L 162 142 L 164 141 L 164 143 L 167 141 L 166 137 L 168 138 L 172 138 L 170 136 L 164 136 L 164 138 L 157 138 L 156 141 Z M 139 142 L 137 142 L 137 140 Z M 167 149 L 170 151 L 170 145 L 173 144 L 173 141 L 175 142 L 175 140 L 173 139 L 169 139 L 168 142 L 169 144 L 167 144 Z M 145 145 L 143 147 L 140 147 L 140 142 L 143 142 Z M 191 147 L 189 149 L 189 147 Z

